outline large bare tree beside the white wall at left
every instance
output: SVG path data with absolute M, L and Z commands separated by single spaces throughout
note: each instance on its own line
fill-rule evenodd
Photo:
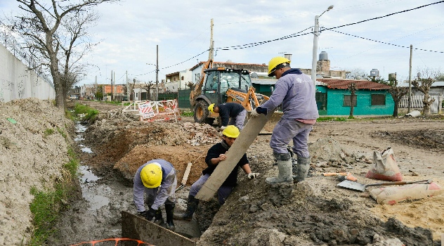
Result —
M 40 0 L 16 1 L 20 4 L 18 8 L 24 12 L 11 20 L 10 30 L 20 34 L 26 43 L 26 48 L 29 49 L 30 56 L 37 60 L 35 66 L 31 68 L 41 65 L 48 67 L 55 87 L 56 105 L 64 108 L 67 92 L 64 87 L 70 84 L 72 79 L 78 78 L 78 71 L 70 67 L 72 64 L 70 59 L 74 52 L 75 41 L 85 33 L 85 24 L 89 23 L 88 13 L 98 4 L 117 0 L 51 0 L 51 4 Z M 77 19 L 79 29 L 76 29 L 75 22 L 72 22 Z M 60 63 L 60 59 L 64 59 L 64 62 Z M 65 67 L 62 72 L 60 67 Z

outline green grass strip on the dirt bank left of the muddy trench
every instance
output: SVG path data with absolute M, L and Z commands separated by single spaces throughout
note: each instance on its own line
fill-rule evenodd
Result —
M 32 187 L 30 190 L 34 195 L 34 200 L 30 204 L 34 231 L 27 245 L 44 245 L 48 237 L 57 231 L 54 226 L 55 221 L 75 188 L 72 179 L 77 179 L 79 167 L 79 160 L 75 157 L 74 150 L 69 149 L 68 155 L 70 161 L 63 165 L 63 179 L 57 181 L 53 189 L 37 190 Z

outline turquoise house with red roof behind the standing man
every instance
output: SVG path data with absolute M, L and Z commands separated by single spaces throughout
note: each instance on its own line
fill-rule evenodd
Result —
M 348 86 L 356 84 L 356 96 L 351 98 Z M 319 115 L 350 115 L 353 102 L 353 115 L 393 115 L 395 103 L 389 93 L 390 86 L 365 79 L 316 79 L 316 103 Z

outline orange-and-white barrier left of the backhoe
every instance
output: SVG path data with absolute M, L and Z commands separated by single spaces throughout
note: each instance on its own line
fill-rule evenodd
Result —
M 141 101 L 138 103 L 139 115 L 141 121 L 169 121 L 181 119 L 181 112 L 178 108 L 177 100 L 164 101 Z

